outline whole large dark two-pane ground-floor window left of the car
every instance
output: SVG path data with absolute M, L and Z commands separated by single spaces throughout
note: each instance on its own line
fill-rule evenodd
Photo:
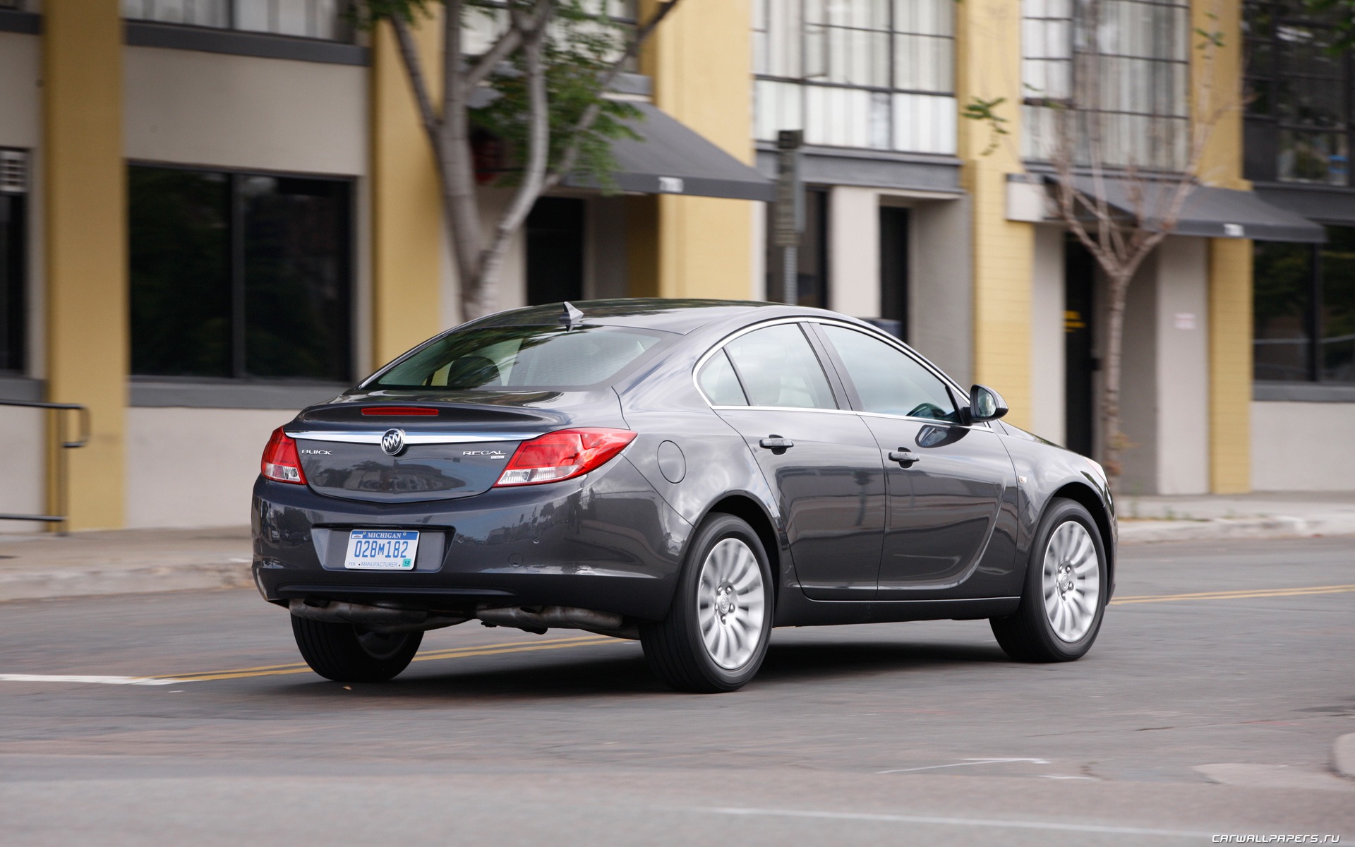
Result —
M 131 373 L 351 378 L 351 186 L 133 165 Z

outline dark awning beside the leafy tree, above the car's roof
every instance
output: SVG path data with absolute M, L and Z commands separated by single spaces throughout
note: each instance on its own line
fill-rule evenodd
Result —
M 630 129 L 641 141 L 621 138 L 612 142 L 617 172 L 612 179 L 621 191 L 638 194 L 690 194 L 725 197 L 737 201 L 771 202 L 775 183 L 738 161 L 672 115 L 650 103 L 635 103 L 644 119 Z M 598 183 L 577 175 L 564 184 L 596 188 Z

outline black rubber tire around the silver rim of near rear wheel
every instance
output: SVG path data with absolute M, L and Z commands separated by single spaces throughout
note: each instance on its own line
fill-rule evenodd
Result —
M 747 661 L 741 661 L 733 668 L 721 667 L 711 656 L 699 622 L 702 604 L 698 594 L 702 569 L 715 545 L 725 539 L 737 539 L 752 552 L 756 571 L 762 579 L 763 594 L 760 626 L 752 627 L 757 632 L 757 642 Z M 767 656 L 774 594 L 767 552 L 757 538 L 757 533 L 733 515 L 710 515 L 696 529 L 687 546 L 683 568 L 678 576 L 678 591 L 668 617 L 659 623 L 644 623 L 640 627 L 640 642 L 645 648 L 645 659 L 649 661 L 650 669 L 668 687 L 678 691 L 715 694 L 737 691 L 744 687 L 757 674 L 757 668 L 762 667 L 763 659 Z M 724 614 L 715 606 L 707 602 L 705 608 L 713 610 L 707 614 L 718 614 L 720 619 L 724 621 Z M 730 615 L 733 614 L 730 611 Z

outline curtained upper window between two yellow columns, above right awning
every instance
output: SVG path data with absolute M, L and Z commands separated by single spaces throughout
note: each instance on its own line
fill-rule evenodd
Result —
M 1187 0 L 1022 0 L 1022 18 L 1026 159 L 1050 161 L 1066 133 L 1079 164 L 1186 167 Z

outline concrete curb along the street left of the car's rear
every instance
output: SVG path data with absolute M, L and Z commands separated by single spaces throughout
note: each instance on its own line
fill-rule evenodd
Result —
M 0 573 L 0 602 L 252 585 L 249 562 L 232 561 L 150 568 L 20 571 Z

